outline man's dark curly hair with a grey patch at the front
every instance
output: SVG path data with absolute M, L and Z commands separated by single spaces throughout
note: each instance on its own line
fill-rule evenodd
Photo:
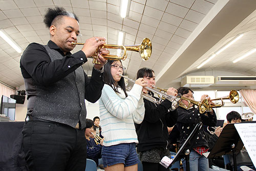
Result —
M 48 8 L 44 19 L 46 27 L 50 28 L 52 25 L 56 25 L 62 16 L 69 16 L 71 18 L 75 18 L 77 22 L 79 22 L 78 17 L 74 13 L 67 12 L 62 7 L 56 7 L 55 9 Z

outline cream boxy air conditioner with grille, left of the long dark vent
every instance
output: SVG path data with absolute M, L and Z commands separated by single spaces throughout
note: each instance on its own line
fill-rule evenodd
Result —
M 209 87 L 214 84 L 214 76 L 185 76 L 180 84 L 181 87 Z

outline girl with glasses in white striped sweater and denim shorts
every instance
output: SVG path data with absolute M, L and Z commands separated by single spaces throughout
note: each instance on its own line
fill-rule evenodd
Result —
M 123 69 L 120 60 L 109 60 L 104 66 L 105 84 L 99 99 L 99 112 L 104 137 L 102 161 L 106 171 L 137 171 L 140 162 L 135 149 L 138 139 L 134 123 L 141 123 L 144 118 L 141 93 L 146 81 L 138 78 L 126 93 L 124 78 L 120 76 Z

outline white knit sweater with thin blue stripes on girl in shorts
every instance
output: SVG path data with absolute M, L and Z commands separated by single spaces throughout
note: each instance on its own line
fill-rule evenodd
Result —
M 101 134 L 104 137 L 104 146 L 138 143 L 134 122 L 141 123 L 144 118 L 142 87 L 134 84 L 126 98 L 121 88 L 118 88 L 118 91 L 120 93 L 116 93 L 109 85 L 104 84 L 99 99 Z

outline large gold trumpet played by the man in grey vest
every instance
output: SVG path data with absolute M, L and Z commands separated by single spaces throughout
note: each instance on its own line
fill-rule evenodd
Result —
M 84 43 L 79 43 L 79 42 L 71 42 L 72 45 L 84 45 Z M 99 63 L 97 58 L 98 58 L 98 51 L 101 48 L 106 48 L 106 49 L 121 49 L 123 50 L 123 55 L 118 56 L 118 55 L 102 55 L 105 59 L 107 60 L 125 60 L 127 57 L 126 51 L 134 51 L 140 53 L 140 57 L 143 60 L 148 60 L 151 56 L 152 53 L 152 42 L 149 38 L 144 38 L 139 45 L 108 45 L 104 44 L 99 46 L 95 53 L 90 56 L 89 58 L 93 58 L 93 63 Z

